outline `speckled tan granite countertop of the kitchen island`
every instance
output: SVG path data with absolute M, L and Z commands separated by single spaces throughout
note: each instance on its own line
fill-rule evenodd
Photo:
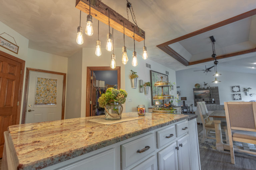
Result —
M 138 116 L 137 112 L 123 116 Z M 187 119 L 187 115 L 146 113 L 143 119 L 103 125 L 86 121 L 104 116 L 14 125 L 8 128 L 19 164 L 17 169 L 50 165 Z

